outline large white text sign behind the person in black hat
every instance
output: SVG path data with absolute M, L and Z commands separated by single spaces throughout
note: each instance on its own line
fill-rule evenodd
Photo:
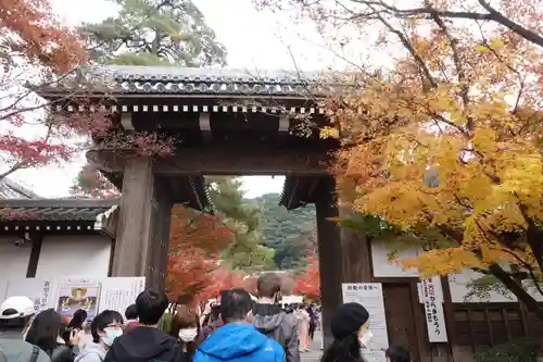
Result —
M 371 361 L 384 362 L 382 359 L 375 359 L 374 351 L 381 351 L 389 347 L 389 335 L 387 333 L 387 317 L 384 315 L 384 300 L 382 296 L 382 285 L 380 283 L 356 283 L 342 284 L 343 303 L 355 302 L 364 305 L 369 313 L 369 329 L 374 338 L 369 342 L 368 353 Z M 368 354 L 368 355 L 369 355 Z

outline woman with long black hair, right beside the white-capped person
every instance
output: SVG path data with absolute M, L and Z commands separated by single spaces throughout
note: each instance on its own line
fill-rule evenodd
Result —
M 40 312 L 34 319 L 26 341 L 41 348 L 50 358 L 51 362 L 74 362 L 73 345 L 77 345 L 75 329 L 72 329 L 70 337 L 65 337 L 70 345 L 65 344 L 62 335 L 65 335 L 62 325 L 62 315 L 53 309 Z

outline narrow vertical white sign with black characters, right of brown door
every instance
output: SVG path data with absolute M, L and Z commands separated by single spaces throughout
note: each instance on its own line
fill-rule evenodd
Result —
M 445 314 L 443 313 L 441 284 L 437 285 L 434 278 L 422 280 L 422 300 L 425 303 L 426 326 L 430 342 L 446 342 Z

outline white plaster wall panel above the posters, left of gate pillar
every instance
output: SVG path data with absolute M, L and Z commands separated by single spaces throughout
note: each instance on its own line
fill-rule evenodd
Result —
M 43 238 L 36 277 L 108 276 L 111 239 L 102 235 Z

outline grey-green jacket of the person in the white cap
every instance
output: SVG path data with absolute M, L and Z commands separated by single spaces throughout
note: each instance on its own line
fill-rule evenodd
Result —
M 0 361 L 28 362 L 37 347 L 23 340 L 22 330 L 0 330 Z M 38 349 L 36 362 L 50 362 L 51 359 L 41 349 Z

